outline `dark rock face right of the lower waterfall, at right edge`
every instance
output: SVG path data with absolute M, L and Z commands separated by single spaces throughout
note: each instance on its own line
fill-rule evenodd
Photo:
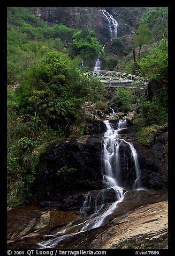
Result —
M 144 188 L 168 188 L 168 132 L 159 134 L 150 146 L 134 142 Z

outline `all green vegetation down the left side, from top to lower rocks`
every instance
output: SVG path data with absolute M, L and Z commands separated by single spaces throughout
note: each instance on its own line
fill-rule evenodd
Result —
M 49 27 L 21 7 L 7 8 L 7 18 L 7 83 L 20 83 L 7 92 L 7 189 L 14 206 L 43 172 L 40 155 L 69 136 L 82 123 L 84 102 L 102 100 L 104 91 L 79 72 L 82 59 L 88 68 L 102 50 L 93 31 Z

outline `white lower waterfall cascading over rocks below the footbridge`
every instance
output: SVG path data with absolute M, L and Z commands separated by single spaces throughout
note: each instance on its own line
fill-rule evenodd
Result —
M 80 209 L 80 218 L 77 221 L 69 223 L 63 230 L 55 234 L 45 235 L 44 240 L 38 243 L 40 248 L 57 247 L 60 241 L 95 229 L 102 226 L 105 218 L 112 214 L 117 205 L 123 201 L 127 188 L 121 182 L 120 167 L 120 147 L 125 144 L 130 149 L 130 159 L 132 159 L 133 168 L 135 169 L 132 189 L 142 189 L 140 187 L 140 168 L 138 155 L 134 146 L 124 139 L 120 138 L 120 132 L 127 129 L 127 120 L 116 120 L 117 129 L 113 129 L 109 120 L 103 121 L 106 126 L 106 132 L 103 136 L 103 150 L 101 158 L 101 169 L 103 176 L 103 189 L 89 191 L 85 195 L 85 200 Z M 126 156 L 125 169 L 128 171 L 128 161 Z M 109 200 L 110 198 L 110 200 Z

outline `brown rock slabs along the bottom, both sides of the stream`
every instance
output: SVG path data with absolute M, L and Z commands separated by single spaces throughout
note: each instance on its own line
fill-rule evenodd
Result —
M 39 248 L 47 234 L 56 234 L 77 211 L 27 205 L 7 211 L 7 248 Z M 166 191 L 128 191 L 106 224 L 60 241 L 60 249 L 167 249 L 168 201 Z

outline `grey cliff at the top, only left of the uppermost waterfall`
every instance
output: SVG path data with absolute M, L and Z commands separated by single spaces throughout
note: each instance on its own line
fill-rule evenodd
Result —
M 102 43 L 109 41 L 110 32 L 100 7 L 28 7 L 48 25 L 64 24 L 71 29 L 94 30 Z M 105 37 L 105 38 L 104 38 Z

